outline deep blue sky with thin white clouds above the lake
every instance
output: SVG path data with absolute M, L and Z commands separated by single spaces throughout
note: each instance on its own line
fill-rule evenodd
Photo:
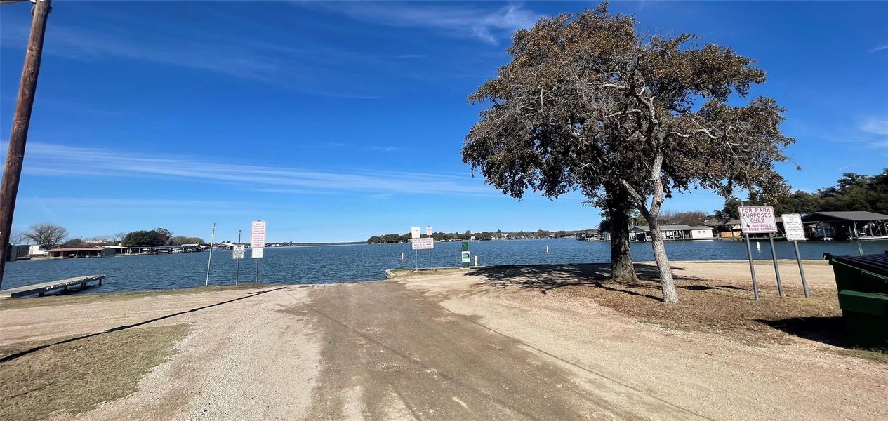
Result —
M 511 32 L 595 3 L 53 2 L 14 229 L 92 236 L 165 226 L 234 240 L 362 241 L 436 231 L 575 229 L 580 195 L 518 202 L 461 162 L 465 98 Z M 28 4 L 0 9 L 9 138 Z M 813 190 L 888 167 L 888 3 L 616 3 L 643 30 L 756 58 L 797 139 L 781 165 Z M 706 192 L 674 211 L 720 208 Z

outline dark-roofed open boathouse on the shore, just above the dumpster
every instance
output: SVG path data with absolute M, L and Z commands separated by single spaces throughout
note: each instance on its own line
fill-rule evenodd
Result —
M 868 211 L 812 212 L 802 217 L 812 240 L 885 240 L 888 215 Z

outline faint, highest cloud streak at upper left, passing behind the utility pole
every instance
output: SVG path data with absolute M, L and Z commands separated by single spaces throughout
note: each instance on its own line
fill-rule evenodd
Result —
M 111 19 L 101 27 L 54 23 L 44 52 L 72 60 L 135 60 L 188 68 L 332 98 L 380 98 L 366 88 L 371 83 L 355 74 L 353 60 L 370 60 L 357 52 L 318 43 L 313 43 L 313 48 L 293 48 L 250 36 L 232 36 L 225 30 L 155 26 L 134 17 Z M 15 21 L 4 25 L 0 45 L 23 49 L 28 25 Z M 320 83 L 328 80 L 326 77 L 346 82 Z

